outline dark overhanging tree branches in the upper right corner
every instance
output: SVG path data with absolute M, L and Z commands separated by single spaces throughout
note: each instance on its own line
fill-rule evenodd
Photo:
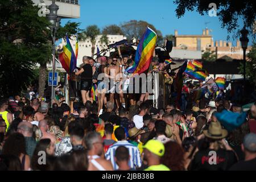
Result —
M 256 16 L 255 6 L 256 2 L 251 0 L 243 1 L 226 1 L 226 0 L 189 0 L 179 1 L 175 0 L 176 16 L 180 18 L 185 14 L 185 11 L 196 10 L 200 15 L 208 14 L 210 3 L 216 3 L 217 16 L 222 22 L 222 28 L 226 28 L 228 32 L 236 30 L 238 26 L 238 18 L 243 19 L 243 23 L 248 27 L 251 32 L 253 30 L 254 19 Z

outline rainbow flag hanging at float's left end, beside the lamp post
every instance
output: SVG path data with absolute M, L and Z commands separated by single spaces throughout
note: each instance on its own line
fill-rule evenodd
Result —
M 71 74 L 76 69 L 76 55 L 73 51 L 71 43 L 69 42 L 68 35 L 66 35 L 67 44 L 63 46 L 63 52 L 59 55 L 59 60 L 62 67 L 68 74 Z M 78 44 L 78 43 L 77 43 Z M 76 48 L 76 53 L 78 54 L 78 46 Z

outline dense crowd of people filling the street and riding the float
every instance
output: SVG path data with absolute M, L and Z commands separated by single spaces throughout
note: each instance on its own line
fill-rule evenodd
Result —
M 81 75 L 82 100 L 72 105 L 63 97 L 52 107 L 42 98 L 2 98 L 0 170 L 256 169 L 256 103 L 246 112 L 225 97 L 185 98 L 186 104 L 177 106 L 171 86 L 175 74 L 155 58 L 148 72 L 164 72 L 170 104 L 158 109 L 148 93 L 135 98 L 133 93 L 111 92 L 98 75 L 112 78 L 115 88 L 132 77 L 126 72 L 133 65 L 130 58 L 101 56 L 95 63 L 84 56 L 76 72 Z M 119 90 L 129 87 L 123 83 Z M 97 89 L 91 96 L 93 84 Z M 187 85 L 183 90 L 189 90 Z

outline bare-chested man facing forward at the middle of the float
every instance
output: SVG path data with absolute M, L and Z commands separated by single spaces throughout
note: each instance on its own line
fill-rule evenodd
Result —
M 110 78 L 110 101 L 114 102 L 114 94 L 115 94 L 115 86 L 119 86 L 119 90 L 121 90 L 121 81 L 122 81 L 122 68 L 117 65 L 117 57 L 113 58 L 113 63 L 108 67 L 108 75 Z M 119 84 L 118 84 L 119 83 Z M 119 93 L 122 94 L 122 93 Z M 117 103 L 117 107 L 120 107 L 119 97 L 115 100 Z

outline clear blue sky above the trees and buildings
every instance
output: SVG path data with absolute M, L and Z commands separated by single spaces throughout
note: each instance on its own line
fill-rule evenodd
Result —
M 218 17 L 210 17 L 208 14 L 201 16 L 196 11 L 186 12 L 178 19 L 175 15 L 176 5 L 173 0 L 80 0 L 81 17 L 79 19 L 62 19 L 61 25 L 71 20 L 81 22 L 80 28 L 96 24 L 101 29 L 109 24 L 120 24 L 129 20 L 145 20 L 153 24 L 163 35 L 174 34 L 174 30 L 179 35 L 202 34 L 203 28 L 208 27 L 212 32 L 213 39 L 226 40 L 230 36 L 230 41 L 236 45 L 236 40 L 232 39 L 232 34 L 228 34 L 225 28 L 221 28 Z M 207 23 L 208 22 L 208 23 Z M 207 26 L 205 26 L 207 23 Z M 242 20 L 239 21 L 243 26 Z M 249 44 L 251 44 L 251 38 Z

